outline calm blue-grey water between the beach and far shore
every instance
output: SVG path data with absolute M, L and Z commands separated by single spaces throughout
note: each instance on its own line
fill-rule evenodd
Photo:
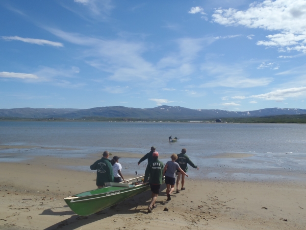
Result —
M 305 128 L 300 124 L 0 122 L 0 145 L 57 148 L 0 149 L 0 161 L 22 160 L 33 155 L 86 157 L 104 150 L 139 153 L 141 157 L 153 145 L 160 154 L 180 153 L 186 148 L 200 167 L 199 171 L 190 169 L 190 175 L 196 177 L 303 178 Z M 170 135 L 180 140 L 169 143 Z M 254 156 L 211 158 L 222 153 Z M 135 159 L 121 159 L 121 164 L 127 166 L 126 171 L 144 171 L 135 164 Z M 87 168 L 84 166 L 84 170 Z

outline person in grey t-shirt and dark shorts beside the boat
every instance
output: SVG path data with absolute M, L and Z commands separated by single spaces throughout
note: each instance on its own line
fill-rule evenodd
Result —
M 171 195 L 170 194 L 174 190 L 176 170 L 180 171 L 184 176 L 188 177 L 188 175 L 181 169 L 180 165 L 175 162 L 176 159 L 177 159 L 177 155 L 175 153 L 173 153 L 171 155 L 171 161 L 167 162 L 167 164 L 165 165 L 165 168 L 164 168 L 163 175 L 165 176 L 165 183 L 167 185 L 167 190 L 166 190 L 167 197 L 168 197 L 167 201 L 171 200 Z M 171 188 L 170 188 L 170 186 L 171 186 Z

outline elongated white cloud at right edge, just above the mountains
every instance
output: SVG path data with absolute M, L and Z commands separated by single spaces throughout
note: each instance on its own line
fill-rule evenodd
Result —
M 249 98 L 260 98 L 265 100 L 282 101 L 286 98 L 296 98 L 306 94 L 306 87 L 296 87 L 287 89 L 277 89 L 267 94 L 252 95 Z

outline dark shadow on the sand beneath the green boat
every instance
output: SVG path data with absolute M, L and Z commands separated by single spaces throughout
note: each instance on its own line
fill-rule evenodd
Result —
M 162 185 L 160 196 L 166 196 L 166 185 Z M 53 230 L 53 229 L 63 229 L 63 230 L 72 230 L 78 227 L 82 227 L 86 224 L 93 223 L 95 221 L 103 220 L 104 218 L 116 215 L 116 214 L 132 214 L 132 213 L 147 213 L 147 209 L 138 208 L 139 205 L 148 205 L 151 198 L 151 191 L 146 191 L 132 198 L 126 199 L 123 202 L 119 203 L 115 208 L 108 208 L 102 210 L 98 213 L 92 214 L 90 216 L 79 216 L 75 215 L 72 211 L 64 212 L 53 212 L 50 209 L 44 210 L 40 215 L 51 215 L 51 216 L 60 216 L 60 215 L 71 215 L 64 221 L 56 223 L 52 226 L 45 228 L 44 230 Z M 158 198 L 157 203 L 159 205 L 165 205 L 164 198 Z

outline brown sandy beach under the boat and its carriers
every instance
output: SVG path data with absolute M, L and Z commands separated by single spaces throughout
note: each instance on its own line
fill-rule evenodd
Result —
M 119 155 L 119 154 L 118 154 Z M 124 154 L 123 154 L 124 155 Z M 122 156 L 123 156 L 122 155 Z M 124 156 L 126 157 L 126 156 Z M 96 173 L 64 169 L 86 159 L 36 157 L 0 163 L 0 229 L 305 229 L 306 183 L 195 180 L 147 214 L 150 192 L 87 217 L 63 198 L 95 189 Z M 194 169 L 190 169 L 194 170 Z M 125 177 L 133 175 L 126 175 Z M 168 208 L 169 211 L 163 211 Z

